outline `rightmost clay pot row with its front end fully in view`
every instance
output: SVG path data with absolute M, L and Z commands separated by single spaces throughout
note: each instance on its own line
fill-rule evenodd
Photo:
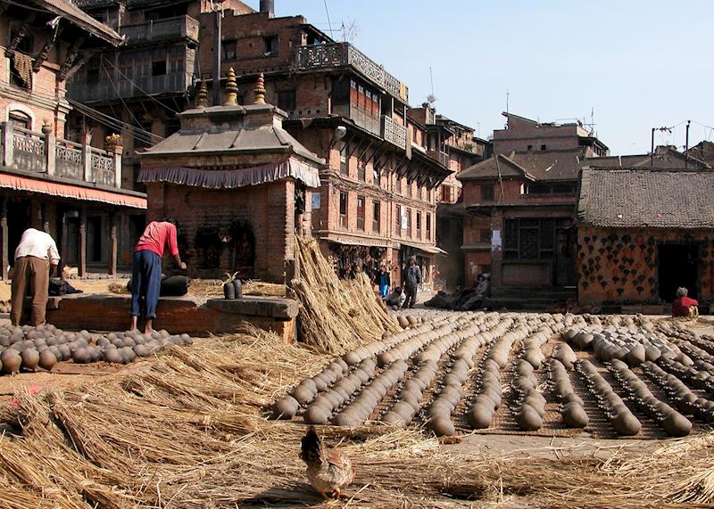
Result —
M 692 423 L 667 403 L 655 398 L 647 384 L 640 380 L 627 364 L 614 359 L 610 365 L 610 371 L 643 413 L 659 423 L 668 435 L 685 437 L 689 431 L 692 431 Z

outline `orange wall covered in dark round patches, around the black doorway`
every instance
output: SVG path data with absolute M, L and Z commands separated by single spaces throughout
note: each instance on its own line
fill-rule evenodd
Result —
M 659 302 L 657 245 L 660 242 L 700 245 L 699 300 L 712 300 L 714 233 L 711 230 L 611 230 L 580 225 L 577 228 L 579 303 Z

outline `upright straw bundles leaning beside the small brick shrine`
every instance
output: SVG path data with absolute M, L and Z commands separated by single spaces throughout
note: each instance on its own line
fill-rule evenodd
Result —
M 366 275 L 340 280 L 318 242 L 296 242 L 299 276 L 293 290 L 300 301 L 300 340 L 316 351 L 344 353 L 399 329 L 375 295 Z

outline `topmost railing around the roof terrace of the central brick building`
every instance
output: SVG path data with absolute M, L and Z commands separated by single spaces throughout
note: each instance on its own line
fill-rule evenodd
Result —
M 349 43 L 301 46 L 295 53 L 295 64 L 299 70 L 351 66 L 397 99 L 409 102 L 408 86 Z

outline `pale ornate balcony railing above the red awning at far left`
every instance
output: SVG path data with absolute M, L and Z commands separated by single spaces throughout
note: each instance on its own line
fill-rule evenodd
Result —
M 36 133 L 0 123 L 0 156 L 7 168 L 27 173 L 121 186 L 121 152 L 108 152 L 88 144 L 77 144 L 51 134 Z

